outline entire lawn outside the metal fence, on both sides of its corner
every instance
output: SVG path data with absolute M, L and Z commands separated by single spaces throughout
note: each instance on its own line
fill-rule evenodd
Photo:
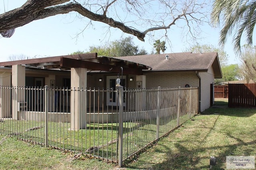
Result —
M 73 156 L 15 138 L 0 136 L 1 169 L 194 170 L 226 169 L 226 156 L 256 155 L 256 109 L 210 108 L 117 168 L 98 160 Z

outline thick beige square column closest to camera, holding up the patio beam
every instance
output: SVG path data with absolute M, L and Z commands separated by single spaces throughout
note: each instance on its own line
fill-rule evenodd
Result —
M 81 90 L 87 86 L 87 68 L 71 68 L 71 101 L 70 101 L 70 112 L 71 112 L 71 129 L 78 130 L 86 128 L 86 104 L 82 103 L 86 100 L 83 96 L 81 100 L 81 93 L 74 91 L 74 89 Z M 83 108 L 83 109 L 82 109 Z

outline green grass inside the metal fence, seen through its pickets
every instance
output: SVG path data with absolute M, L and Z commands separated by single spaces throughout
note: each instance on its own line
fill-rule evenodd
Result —
M 170 119 L 174 119 L 170 121 Z M 180 123 L 189 119 L 189 115 L 182 115 Z M 36 143 L 44 143 L 44 122 L 22 121 L 5 119 L 0 123 L 0 131 L 5 135 L 18 134 L 17 137 Z M 175 117 L 169 115 L 162 119 L 159 126 L 159 137 L 165 135 L 177 126 Z M 30 127 L 42 127 L 33 131 L 26 131 Z M 156 139 L 156 119 L 140 120 L 123 123 L 123 159 L 126 159 L 134 152 L 149 145 Z M 117 160 L 117 139 L 118 123 L 91 123 L 86 129 L 77 131 L 70 130 L 70 123 L 48 122 L 48 145 L 62 150 L 82 152 L 100 156 L 105 159 Z M 113 143 L 110 143 L 113 141 Z M 109 143 L 108 145 L 106 145 Z M 87 149 L 94 146 L 103 146 L 93 150 L 91 153 Z

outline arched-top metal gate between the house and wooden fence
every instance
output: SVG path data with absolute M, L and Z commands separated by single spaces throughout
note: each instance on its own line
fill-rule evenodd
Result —
M 228 83 L 211 84 L 211 106 L 228 107 Z

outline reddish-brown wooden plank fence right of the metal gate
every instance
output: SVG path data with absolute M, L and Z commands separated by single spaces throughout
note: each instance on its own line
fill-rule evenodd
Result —
M 256 84 L 228 84 L 228 107 L 256 107 Z

